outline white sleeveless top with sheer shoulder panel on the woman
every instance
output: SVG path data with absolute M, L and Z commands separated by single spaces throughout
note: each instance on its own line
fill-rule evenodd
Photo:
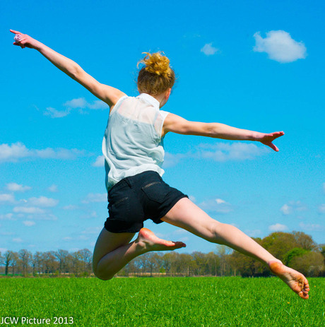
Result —
M 121 97 L 110 112 L 102 141 L 107 191 L 124 177 L 147 170 L 164 174 L 161 132 L 169 112 L 159 106 L 154 97 L 141 93 Z

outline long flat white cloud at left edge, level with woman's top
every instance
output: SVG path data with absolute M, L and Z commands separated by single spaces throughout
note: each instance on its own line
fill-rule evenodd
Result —
M 18 162 L 20 159 L 60 159 L 74 160 L 77 157 L 85 156 L 84 150 L 78 149 L 53 149 L 45 148 L 42 150 L 28 149 L 21 143 L 0 144 L 0 162 Z

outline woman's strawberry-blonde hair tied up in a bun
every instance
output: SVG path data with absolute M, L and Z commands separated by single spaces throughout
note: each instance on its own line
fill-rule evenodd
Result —
M 170 67 L 170 59 L 163 52 L 143 54 L 146 54 L 146 57 L 138 61 L 138 65 L 145 65 L 138 72 L 138 91 L 158 95 L 172 88 L 175 83 L 175 72 Z

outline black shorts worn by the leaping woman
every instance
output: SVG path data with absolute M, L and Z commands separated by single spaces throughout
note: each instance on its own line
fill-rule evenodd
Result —
M 125 177 L 108 191 L 108 212 L 105 229 L 113 233 L 136 233 L 143 221 L 160 224 L 166 213 L 181 198 L 188 196 L 162 181 L 152 170 Z

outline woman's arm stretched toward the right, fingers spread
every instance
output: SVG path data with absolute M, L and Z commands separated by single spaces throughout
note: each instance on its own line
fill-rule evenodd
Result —
M 247 129 L 237 129 L 220 123 L 201 123 L 199 121 L 187 121 L 176 114 L 167 114 L 162 126 L 162 136 L 169 131 L 185 135 L 209 136 L 211 138 L 223 138 L 225 140 L 259 141 L 278 151 L 272 142 L 283 136 L 283 131 L 273 133 L 259 133 Z

